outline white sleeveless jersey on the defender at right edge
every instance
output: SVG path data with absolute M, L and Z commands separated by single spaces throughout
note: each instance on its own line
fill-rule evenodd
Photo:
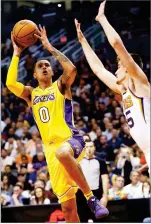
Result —
M 143 152 L 150 150 L 150 98 L 138 97 L 129 88 L 122 98 L 132 138 Z

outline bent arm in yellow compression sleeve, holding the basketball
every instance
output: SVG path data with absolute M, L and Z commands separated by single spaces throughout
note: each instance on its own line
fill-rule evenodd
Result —
M 7 73 L 6 86 L 12 93 L 26 100 L 27 103 L 29 104 L 31 87 L 24 86 L 22 83 L 17 82 L 19 58 L 23 49 L 16 45 L 12 33 L 11 33 L 11 39 L 14 48 L 14 53 Z

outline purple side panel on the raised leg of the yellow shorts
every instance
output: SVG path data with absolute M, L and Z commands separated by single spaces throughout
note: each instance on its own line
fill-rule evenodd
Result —
M 80 136 L 80 137 L 74 136 L 74 137 L 70 138 L 67 142 L 71 145 L 71 147 L 73 149 L 74 158 L 77 159 L 85 147 L 85 142 L 84 142 L 83 137 L 82 136 Z

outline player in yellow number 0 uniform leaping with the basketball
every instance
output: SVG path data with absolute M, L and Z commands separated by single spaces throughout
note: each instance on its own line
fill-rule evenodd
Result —
M 76 68 L 49 43 L 44 27 L 40 26 L 39 35 L 36 36 L 42 41 L 44 48 L 60 62 L 63 74 L 52 83 L 53 71 L 49 61 L 40 60 L 34 68 L 34 77 L 39 84 L 37 88 L 17 82 L 18 63 L 23 49 L 16 45 L 12 34 L 14 53 L 6 85 L 32 108 L 44 143 L 52 188 L 61 203 L 66 222 L 80 222 L 75 199 L 77 186 L 84 193 L 96 218 L 106 216 L 108 209 L 93 195 L 78 164 L 85 154 L 85 143 L 73 123 L 70 87 L 76 76 Z

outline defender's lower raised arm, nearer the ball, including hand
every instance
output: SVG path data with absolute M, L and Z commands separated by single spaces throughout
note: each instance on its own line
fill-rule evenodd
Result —
M 94 74 L 102 81 L 104 84 L 106 84 L 111 90 L 114 92 L 117 92 L 120 94 L 120 90 L 118 85 L 116 84 L 117 78 L 107 71 L 102 64 L 101 60 L 97 57 L 93 49 L 90 47 L 89 43 L 87 42 L 86 38 L 84 37 L 81 29 L 80 29 L 80 23 L 75 19 L 75 25 L 77 30 L 77 36 L 79 39 L 79 42 L 82 45 L 84 54 L 86 56 L 86 59 L 94 72 Z

